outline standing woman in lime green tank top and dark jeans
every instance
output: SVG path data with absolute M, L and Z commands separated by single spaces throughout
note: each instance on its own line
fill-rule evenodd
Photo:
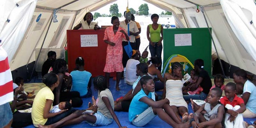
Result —
M 157 14 L 151 15 L 152 24 L 148 25 L 147 28 L 147 38 L 149 41 L 149 51 L 151 57 L 160 57 L 162 55 L 162 40 L 163 40 L 163 26 L 158 24 L 159 16 Z M 162 36 L 160 36 L 160 33 Z M 162 61 L 162 59 L 161 59 Z M 158 67 L 158 70 L 161 72 L 162 65 Z

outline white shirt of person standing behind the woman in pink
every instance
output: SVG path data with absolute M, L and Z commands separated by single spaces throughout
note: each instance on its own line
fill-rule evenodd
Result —
M 134 21 L 130 21 L 129 24 L 130 24 L 129 30 L 131 32 L 134 32 L 134 33 L 139 32 L 137 24 Z M 125 29 L 126 32 L 128 33 L 128 24 L 126 25 L 125 21 L 121 21 L 119 26 L 121 28 Z M 123 39 L 123 41 L 126 41 L 126 40 Z M 135 42 L 135 36 L 134 35 L 130 35 L 130 42 L 133 42 L 133 43 Z

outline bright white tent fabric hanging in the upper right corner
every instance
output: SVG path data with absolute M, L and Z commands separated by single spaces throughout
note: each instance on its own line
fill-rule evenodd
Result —
M 256 8 L 251 0 L 221 0 L 227 21 L 246 51 L 256 60 Z

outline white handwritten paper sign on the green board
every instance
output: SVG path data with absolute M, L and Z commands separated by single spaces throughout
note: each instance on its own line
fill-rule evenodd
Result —
M 192 39 L 190 34 L 175 34 L 174 35 L 175 46 L 191 46 Z

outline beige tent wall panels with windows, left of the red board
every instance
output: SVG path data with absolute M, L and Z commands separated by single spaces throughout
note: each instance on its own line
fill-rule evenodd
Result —
M 39 14 L 42 14 L 41 19 L 36 22 Z M 66 42 L 66 30 L 71 29 L 75 14 L 76 12 L 57 12 L 58 22 L 51 24 L 43 48 L 63 48 Z M 41 47 L 51 16 L 52 11 L 36 8 L 27 35 L 24 36 L 22 44 L 10 62 L 12 70 L 35 61 L 35 48 Z M 63 20 L 66 20 L 64 25 L 61 24 Z

